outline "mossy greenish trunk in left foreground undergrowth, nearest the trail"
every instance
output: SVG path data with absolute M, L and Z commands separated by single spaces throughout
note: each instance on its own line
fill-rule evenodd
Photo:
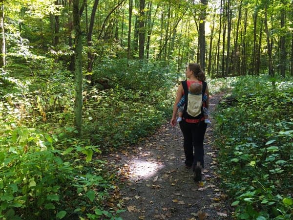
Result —
M 83 73 L 82 73 L 82 31 L 79 16 L 79 0 L 73 0 L 72 4 L 73 26 L 75 31 L 75 108 L 74 125 L 78 134 L 82 132 L 82 108 L 83 108 Z

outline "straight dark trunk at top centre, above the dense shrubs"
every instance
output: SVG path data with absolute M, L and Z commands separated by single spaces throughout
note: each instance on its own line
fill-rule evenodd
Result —
M 139 16 L 139 59 L 143 60 L 145 55 L 145 0 L 140 0 L 140 16 Z

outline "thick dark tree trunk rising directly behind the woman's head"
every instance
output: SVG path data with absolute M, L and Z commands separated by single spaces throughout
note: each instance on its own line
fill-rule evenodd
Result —
M 205 32 L 205 20 L 206 20 L 206 11 L 208 0 L 200 0 L 202 7 L 199 15 L 199 33 L 198 33 L 198 42 L 199 42 L 199 64 L 203 71 L 206 69 L 206 32 Z

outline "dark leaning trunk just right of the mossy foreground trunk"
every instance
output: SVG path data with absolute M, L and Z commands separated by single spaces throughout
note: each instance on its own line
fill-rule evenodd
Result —
M 86 79 L 88 81 L 91 81 L 91 72 L 93 68 L 93 63 L 94 63 L 94 54 L 92 52 L 92 35 L 93 35 L 93 28 L 94 28 L 94 22 L 95 22 L 95 16 L 96 16 L 96 11 L 97 7 L 99 4 L 99 0 L 95 0 L 92 12 L 90 15 L 90 22 L 89 22 L 89 27 L 88 27 L 88 33 L 87 33 L 87 72 L 89 74 L 86 75 Z

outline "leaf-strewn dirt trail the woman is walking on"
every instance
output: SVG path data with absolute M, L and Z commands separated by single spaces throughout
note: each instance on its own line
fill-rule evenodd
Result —
M 209 111 L 223 94 L 210 97 Z M 213 123 L 213 120 L 211 118 Z M 125 185 L 121 200 L 127 211 L 124 220 L 222 220 L 230 219 L 227 195 L 216 176 L 217 152 L 212 148 L 213 126 L 205 138 L 203 181 L 195 183 L 191 169 L 184 165 L 183 135 L 179 125 L 167 122 L 156 134 L 117 154 L 111 166 L 119 168 Z

